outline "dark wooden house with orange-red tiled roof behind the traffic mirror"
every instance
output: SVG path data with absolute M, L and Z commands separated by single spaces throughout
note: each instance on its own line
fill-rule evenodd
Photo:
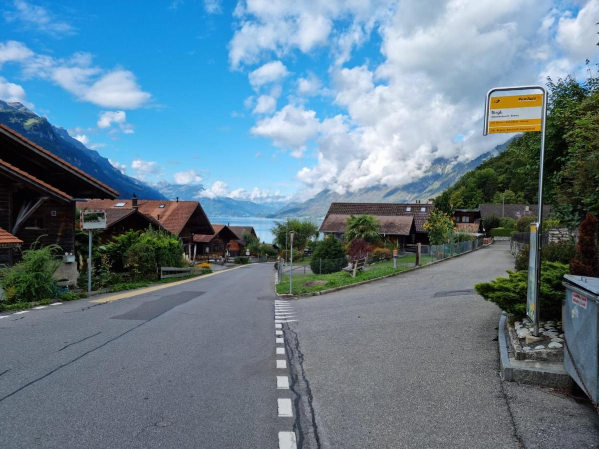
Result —
M 131 199 L 78 201 L 77 207 L 106 211 L 108 228 L 102 233 L 105 239 L 128 230 L 153 226 L 179 236 L 189 256 L 193 255 L 193 236 L 214 234 L 198 201 L 138 199 L 134 196 Z

